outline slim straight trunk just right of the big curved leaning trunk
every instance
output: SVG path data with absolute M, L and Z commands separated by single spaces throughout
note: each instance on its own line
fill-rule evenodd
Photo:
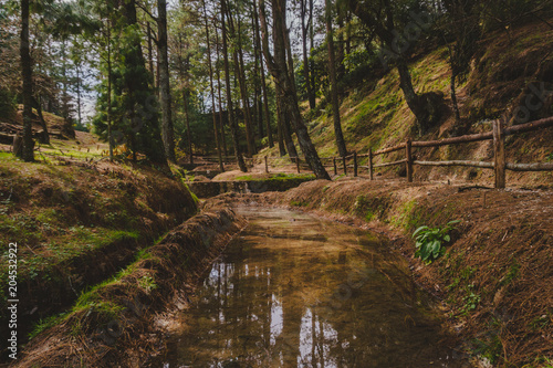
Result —
M 340 102 L 338 88 L 336 85 L 336 62 L 334 56 L 334 32 L 332 30 L 332 3 L 331 0 L 325 0 L 325 19 L 326 19 L 326 44 L 328 45 L 328 74 L 331 75 L 331 98 L 332 98 L 332 116 L 334 119 L 334 136 L 336 138 L 336 147 L 341 157 L 347 156 L 344 135 L 342 134 L 342 124 L 340 122 Z

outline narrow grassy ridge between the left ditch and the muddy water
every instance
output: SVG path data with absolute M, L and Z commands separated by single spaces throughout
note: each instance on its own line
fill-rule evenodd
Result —
M 211 208 L 175 228 L 44 326 L 14 367 L 143 366 L 163 341 L 161 314 L 187 304 L 190 285 L 244 224 L 231 210 Z

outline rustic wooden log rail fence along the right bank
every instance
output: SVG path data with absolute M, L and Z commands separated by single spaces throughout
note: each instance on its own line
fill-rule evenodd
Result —
M 512 171 L 553 171 L 553 162 L 534 162 L 534 164 L 514 164 L 505 161 L 505 137 L 510 135 L 544 129 L 553 126 L 553 117 L 544 118 L 541 120 L 535 120 L 528 124 L 515 125 L 512 127 L 503 127 L 502 120 L 492 122 L 492 130 L 480 134 L 465 135 L 453 138 L 445 138 L 439 140 L 419 140 L 411 141 L 406 140 L 405 143 L 384 148 L 377 151 L 372 149 L 367 154 L 357 154 L 354 151 L 352 155 L 345 157 L 321 157 L 323 165 L 326 168 L 332 168 L 334 175 L 338 175 L 338 168 L 342 168 L 344 175 L 348 174 L 348 169 L 353 169 L 353 176 L 357 177 L 359 168 L 367 169 L 371 180 L 374 180 L 374 170 L 382 167 L 405 165 L 407 171 L 407 181 L 413 182 L 413 167 L 415 165 L 419 166 L 466 166 L 476 167 L 482 169 L 493 169 L 495 177 L 495 188 L 505 188 L 505 170 Z M 414 148 L 426 148 L 426 147 L 439 147 L 449 146 L 458 144 L 467 144 L 472 141 L 481 140 L 493 140 L 493 161 L 472 161 L 472 160 L 450 160 L 450 161 L 421 161 L 414 159 L 413 149 Z M 384 156 L 395 151 L 404 150 L 405 158 L 383 164 L 374 164 L 374 159 L 377 156 Z M 361 166 L 361 159 L 368 158 L 367 165 Z M 255 164 L 264 164 L 265 172 L 269 172 L 269 161 L 270 160 L 282 160 L 281 158 L 244 158 L 246 164 L 252 167 Z M 298 172 L 301 170 L 309 170 L 305 162 L 302 162 L 298 157 L 292 157 L 293 164 L 279 165 L 279 166 L 293 166 Z M 236 159 L 226 157 L 225 161 L 236 162 Z M 352 161 L 348 164 L 348 161 Z M 331 164 L 332 162 L 332 164 Z

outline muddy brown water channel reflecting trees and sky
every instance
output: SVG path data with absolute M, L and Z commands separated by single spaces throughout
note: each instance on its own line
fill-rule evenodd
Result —
M 374 235 L 281 209 L 206 275 L 158 367 L 461 367 L 401 259 Z

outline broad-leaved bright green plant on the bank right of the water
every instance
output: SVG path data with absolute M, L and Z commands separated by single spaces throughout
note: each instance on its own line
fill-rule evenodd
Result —
M 444 243 L 451 241 L 449 231 L 453 230 L 453 224 L 460 220 L 449 221 L 445 228 L 420 227 L 413 233 L 416 243 L 415 256 L 420 257 L 425 263 L 429 264 L 446 253 Z

